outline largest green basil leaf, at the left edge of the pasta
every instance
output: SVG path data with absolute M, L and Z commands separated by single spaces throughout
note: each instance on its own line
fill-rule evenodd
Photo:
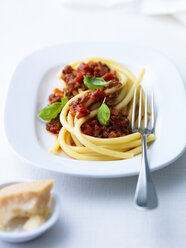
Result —
M 67 102 L 68 98 L 64 93 L 64 97 L 61 99 L 61 102 L 55 102 L 51 105 L 46 106 L 41 111 L 39 111 L 38 115 L 41 119 L 45 121 L 55 119 Z

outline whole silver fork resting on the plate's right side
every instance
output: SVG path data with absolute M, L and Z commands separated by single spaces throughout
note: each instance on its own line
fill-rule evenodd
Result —
M 135 109 L 136 109 L 136 92 L 134 91 L 133 108 L 132 108 L 132 132 L 139 132 L 142 136 L 142 164 L 136 186 L 135 202 L 139 207 L 153 209 L 158 206 L 158 199 L 154 183 L 150 174 L 149 163 L 147 159 L 147 136 L 154 133 L 154 99 L 151 98 L 151 125 L 148 128 L 148 111 L 147 111 L 147 95 L 145 95 L 145 111 L 144 111 L 144 128 L 141 125 L 142 115 L 142 88 L 139 96 L 139 114 L 138 128 L 135 128 Z

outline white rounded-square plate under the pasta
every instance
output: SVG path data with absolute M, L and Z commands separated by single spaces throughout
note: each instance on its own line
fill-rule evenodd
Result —
M 138 75 L 155 95 L 156 141 L 148 155 L 152 170 L 168 165 L 186 144 L 186 97 L 182 79 L 164 55 L 146 47 L 124 43 L 68 43 L 34 52 L 17 66 L 5 106 L 5 131 L 13 150 L 27 162 L 48 170 L 91 177 L 119 177 L 139 172 L 140 155 L 120 161 L 78 161 L 48 152 L 54 137 L 45 130 L 37 112 L 47 104 L 52 89 L 60 87 L 56 74 L 64 65 L 87 58 L 104 57 L 120 62 Z

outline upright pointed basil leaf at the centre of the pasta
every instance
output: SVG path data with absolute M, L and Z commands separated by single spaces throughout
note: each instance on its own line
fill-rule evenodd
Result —
M 108 126 L 110 119 L 110 109 L 105 104 L 105 99 L 98 109 L 97 118 L 101 125 Z

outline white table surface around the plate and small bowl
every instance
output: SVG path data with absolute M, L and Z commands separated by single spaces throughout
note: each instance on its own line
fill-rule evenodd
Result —
M 167 54 L 186 80 L 186 27 L 171 17 L 127 16 L 120 7 L 85 9 L 64 7 L 60 1 L 7 0 L 1 1 L 0 33 L 0 120 L 18 61 L 61 42 L 124 41 L 150 46 Z M 186 247 L 186 153 L 153 173 L 160 204 L 149 212 L 133 204 L 137 177 L 77 178 L 21 161 L 5 141 L 2 121 L 0 165 L 0 181 L 54 178 L 62 202 L 60 220 L 46 234 L 19 245 L 0 241 L 1 248 Z

